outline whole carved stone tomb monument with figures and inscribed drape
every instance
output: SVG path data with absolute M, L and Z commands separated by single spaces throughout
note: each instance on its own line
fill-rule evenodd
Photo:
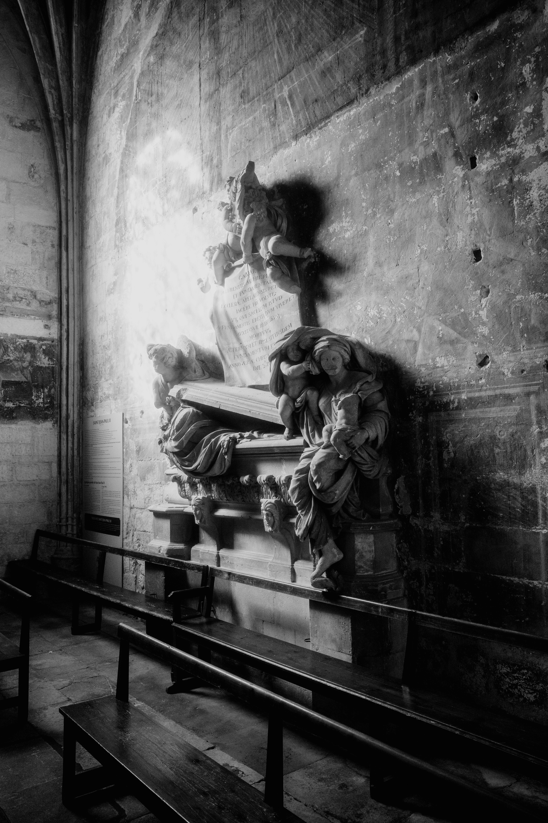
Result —
M 205 253 L 218 351 L 186 337 L 148 350 L 173 481 L 151 507 L 149 551 L 403 604 L 386 486 L 389 408 L 375 361 L 351 337 L 301 325 L 295 261 L 312 252 L 285 239 L 282 204 L 267 200 L 253 164 L 228 179 L 227 192 L 226 242 Z M 201 281 L 203 291 L 211 286 Z M 227 425 L 226 412 L 248 425 Z M 164 597 L 169 581 L 147 565 L 146 587 Z M 215 591 L 222 619 L 297 644 L 311 638 L 313 649 L 345 659 L 364 653 L 363 616 L 290 588 L 218 579 Z M 387 653 L 373 635 L 371 654 L 398 674 L 402 639 L 393 636 Z

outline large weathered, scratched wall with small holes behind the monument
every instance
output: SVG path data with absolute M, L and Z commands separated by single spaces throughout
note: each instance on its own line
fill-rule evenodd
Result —
M 127 542 L 162 499 L 145 345 L 209 342 L 201 252 L 253 159 L 321 252 L 303 319 L 383 363 L 410 602 L 546 632 L 548 8 L 505 6 L 106 3 L 85 397 L 126 413 Z

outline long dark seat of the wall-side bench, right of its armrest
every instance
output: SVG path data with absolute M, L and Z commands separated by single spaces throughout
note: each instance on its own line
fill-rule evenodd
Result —
M 514 641 L 517 634 L 509 632 Z M 347 709 L 352 707 L 357 717 L 369 719 L 370 728 L 380 737 L 387 723 L 395 721 L 398 728 L 408 728 L 411 738 L 413 727 L 419 739 L 426 730 L 437 732 L 437 737 L 449 736 L 451 746 L 457 742 L 461 749 L 463 745 L 468 749 L 480 746 L 484 753 L 497 752 L 522 767 L 527 765 L 527 770 L 548 770 L 548 729 L 536 723 L 483 709 L 453 695 L 379 677 L 365 667 L 211 617 L 174 624 L 173 637 L 182 648 L 196 644 L 201 657 L 204 650 L 215 652 L 345 704 Z M 540 640 L 534 638 L 531 643 Z

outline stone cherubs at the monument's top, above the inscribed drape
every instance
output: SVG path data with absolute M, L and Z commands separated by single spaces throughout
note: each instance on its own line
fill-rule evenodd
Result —
M 256 265 L 262 258 L 267 276 L 279 289 L 300 294 L 294 261 L 311 258 L 314 252 L 285 238 L 287 217 L 280 202 L 269 202 L 265 187 L 255 174 L 255 163 L 250 160 L 237 177 L 229 177 L 226 189 L 230 202 L 219 202 L 226 243 L 205 250 L 215 282 L 223 285 L 224 278 L 235 267 Z M 206 286 L 200 288 L 205 291 Z

